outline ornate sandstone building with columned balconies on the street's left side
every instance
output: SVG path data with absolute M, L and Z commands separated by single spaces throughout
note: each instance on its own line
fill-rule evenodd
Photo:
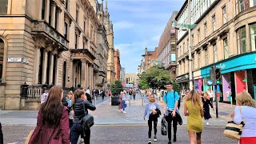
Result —
M 98 13 L 102 12 L 94 10 L 89 0 L 1 2 L 0 109 L 35 110 L 43 86 L 92 89 L 97 73 L 106 73 L 106 63 L 97 62 L 96 58 L 98 50 L 103 50 L 106 62 L 106 36 L 113 37 L 109 32 L 113 26 L 106 25 L 104 35 L 100 27 L 105 26 L 107 18 L 104 22 L 99 20 Z M 97 42 L 100 35 L 105 42 Z M 113 42 L 110 43 L 113 47 Z M 104 46 L 98 48 L 98 45 Z M 28 91 L 21 97 L 25 82 Z

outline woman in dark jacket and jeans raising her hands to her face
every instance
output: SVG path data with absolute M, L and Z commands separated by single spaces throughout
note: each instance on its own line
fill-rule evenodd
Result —
M 71 144 L 77 144 L 80 135 L 85 144 L 90 144 L 90 129 L 84 131 L 81 120 L 85 114 L 89 114 L 87 109 L 96 110 L 96 107 L 87 101 L 84 90 L 76 90 L 72 108 L 74 110 L 74 124 L 70 132 Z

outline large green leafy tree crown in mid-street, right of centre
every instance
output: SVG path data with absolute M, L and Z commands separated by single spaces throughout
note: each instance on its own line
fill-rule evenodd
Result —
M 140 74 L 140 82 L 138 87 L 142 90 L 152 88 L 165 90 L 166 84 L 172 82 L 175 91 L 180 91 L 179 85 L 175 82 L 167 70 L 163 66 L 152 66 L 150 69 Z

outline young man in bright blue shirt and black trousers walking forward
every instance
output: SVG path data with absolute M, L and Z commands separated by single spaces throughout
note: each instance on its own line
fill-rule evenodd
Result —
M 171 122 L 173 122 L 174 127 L 174 142 L 176 142 L 176 133 L 178 120 L 176 118 L 176 110 L 178 110 L 178 92 L 173 90 L 172 83 L 166 85 L 167 92 L 164 94 L 163 101 L 165 102 L 163 112 L 166 116 L 166 121 L 168 122 L 168 139 L 169 144 L 171 143 Z

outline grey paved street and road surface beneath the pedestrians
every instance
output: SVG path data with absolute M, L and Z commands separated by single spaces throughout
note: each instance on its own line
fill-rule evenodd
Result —
M 98 102 L 97 110 L 90 111 L 94 115 L 95 125 L 91 128 L 92 144 L 143 144 L 147 143 L 147 122 L 143 120 L 144 106 L 142 97 L 137 94 L 136 100 L 127 101 L 126 114 L 118 112 L 118 106 L 110 106 L 110 101 Z M 160 102 L 162 107 L 162 102 Z M 182 102 L 183 106 L 183 102 Z M 181 111 L 183 108 L 181 106 Z M 223 130 L 230 112 L 230 105 L 220 103 L 219 117 L 211 111 L 213 118 L 210 125 L 204 126 L 202 143 L 236 143 L 235 140 L 225 138 Z M 37 111 L 0 111 L 0 121 L 3 126 L 4 143 L 24 143 L 30 130 L 36 126 Z M 178 126 L 178 141 L 176 143 L 189 143 L 186 131 L 186 117 L 182 116 L 184 124 Z M 158 119 L 158 142 L 167 143 L 167 136 L 161 135 L 161 118 Z

